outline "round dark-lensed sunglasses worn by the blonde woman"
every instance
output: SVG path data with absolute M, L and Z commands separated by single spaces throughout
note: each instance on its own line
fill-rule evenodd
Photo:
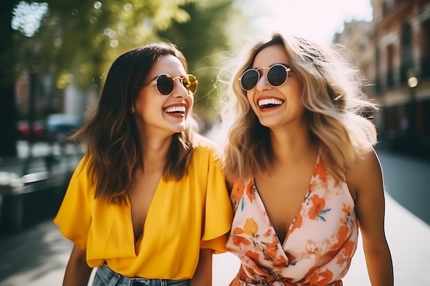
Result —
M 252 88 L 256 87 L 260 80 L 260 69 L 269 69 L 267 71 L 267 82 L 273 87 L 282 86 L 288 78 L 288 71 L 291 68 L 286 64 L 273 64 L 271 67 L 260 67 L 258 69 L 247 69 L 245 73 L 239 78 L 240 86 L 244 91 L 251 91 Z

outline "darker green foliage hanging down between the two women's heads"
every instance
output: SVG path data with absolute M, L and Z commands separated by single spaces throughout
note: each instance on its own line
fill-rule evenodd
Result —
M 204 121 L 213 121 L 219 99 L 219 62 L 230 50 L 227 24 L 241 12 L 234 8 L 232 0 L 198 1 L 183 9 L 190 14 L 190 21 L 174 23 L 159 34 L 185 54 L 190 72 L 199 80 L 194 108 Z

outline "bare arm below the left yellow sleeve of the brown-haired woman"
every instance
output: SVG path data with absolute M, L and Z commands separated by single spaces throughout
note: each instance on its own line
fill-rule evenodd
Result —
M 73 246 L 63 280 L 63 286 L 87 286 L 93 270 L 88 266 L 84 250 Z

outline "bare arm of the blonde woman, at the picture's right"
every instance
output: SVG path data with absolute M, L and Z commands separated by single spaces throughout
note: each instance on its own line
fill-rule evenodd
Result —
M 384 230 L 383 175 L 373 150 L 354 166 L 347 182 L 355 196 L 355 211 L 370 282 L 372 286 L 392 286 L 393 265 Z

